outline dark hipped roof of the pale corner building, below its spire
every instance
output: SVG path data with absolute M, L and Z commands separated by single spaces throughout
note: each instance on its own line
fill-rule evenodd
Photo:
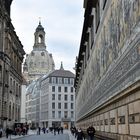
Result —
M 75 75 L 69 70 L 54 70 L 49 74 L 48 77 L 68 77 L 68 78 L 75 78 Z

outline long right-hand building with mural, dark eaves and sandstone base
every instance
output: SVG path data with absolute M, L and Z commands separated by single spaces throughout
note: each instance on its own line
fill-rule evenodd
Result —
M 76 124 L 96 137 L 140 139 L 140 1 L 84 0 Z

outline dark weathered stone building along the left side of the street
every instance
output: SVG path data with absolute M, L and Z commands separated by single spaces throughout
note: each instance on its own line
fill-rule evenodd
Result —
M 0 125 L 20 121 L 21 66 L 25 52 L 11 23 L 12 0 L 0 0 Z

